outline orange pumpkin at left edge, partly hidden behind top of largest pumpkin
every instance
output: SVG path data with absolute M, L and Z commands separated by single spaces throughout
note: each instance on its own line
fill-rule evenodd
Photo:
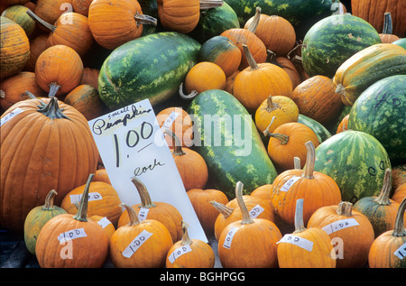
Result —
M 35 74 L 31 71 L 22 71 L 14 76 L 5 78 L 0 83 L 0 105 L 6 110 L 15 103 L 28 99 L 25 94 L 28 90 L 34 97 L 44 97 L 45 92 L 40 88 L 35 80 Z

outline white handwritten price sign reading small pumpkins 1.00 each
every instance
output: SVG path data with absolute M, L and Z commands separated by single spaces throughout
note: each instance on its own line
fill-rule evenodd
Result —
M 177 208 L 191 238 L 208 242 L 148 99 L 88 121 L 112 186 L 122 202 L 141 203 L 132 178 L 141 180 L 152 201 Z

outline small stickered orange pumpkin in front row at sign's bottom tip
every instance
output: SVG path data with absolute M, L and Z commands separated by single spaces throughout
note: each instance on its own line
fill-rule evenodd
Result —
M 188 226 L 182 221 L 182 239 L 173 244 L 166 256 L 166 268 L 213 268 L 216 255 L 204 241 L 190 238 Z

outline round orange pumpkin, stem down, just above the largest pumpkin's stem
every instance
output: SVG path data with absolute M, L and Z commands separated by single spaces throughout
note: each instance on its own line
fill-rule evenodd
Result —
M 65 45 L 47 48 L 35 64 L 35 78 L 48 97 L 66 95 L 76 88 L 83 76 L 83 62 L 74 51 Z

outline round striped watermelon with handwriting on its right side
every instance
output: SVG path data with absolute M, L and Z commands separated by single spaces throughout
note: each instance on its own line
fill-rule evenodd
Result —
M 391 161 L 383 145 L 361 131 L 334 134 L 316 148 L 314 171 L 336 180 L 342 199 L 351 203 L 378 195 L 387 168 Z

